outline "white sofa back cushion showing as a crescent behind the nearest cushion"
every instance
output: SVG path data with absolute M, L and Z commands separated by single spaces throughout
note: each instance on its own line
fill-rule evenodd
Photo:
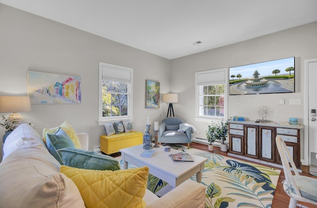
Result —
M 22 123 L 6 138 L 3 145 L 3 157 L 2 160 L 12 153 L 18 146 L 23 143 L 23 138 L 32 138 L 38 140 L 43 146 L 44 142 L 41 139 L 40 134 L 29 124 Z

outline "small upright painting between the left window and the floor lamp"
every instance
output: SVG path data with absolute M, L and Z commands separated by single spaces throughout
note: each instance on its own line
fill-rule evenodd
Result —
M 159 82 L 147 80 L 146 108 L 159 108 Z

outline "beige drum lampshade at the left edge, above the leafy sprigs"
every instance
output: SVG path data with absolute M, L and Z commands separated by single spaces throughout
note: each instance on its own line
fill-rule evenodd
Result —
M 28 96 L 0 96 L 0 112 L 31 111 L 30 97 Z

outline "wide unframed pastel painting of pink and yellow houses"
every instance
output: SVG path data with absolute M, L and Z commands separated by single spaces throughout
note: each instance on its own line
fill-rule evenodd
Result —
M 80 104 L 81 77 L 28 71 L 31 104 Z

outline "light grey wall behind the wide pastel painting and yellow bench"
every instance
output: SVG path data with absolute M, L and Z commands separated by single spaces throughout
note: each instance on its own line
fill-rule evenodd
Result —
M 146 116 L 153 125 L 164 117 L 164 103 L 159 109 L 145 108 L 145 92 L 146 80 L 159 81 L 160 92 L 169 92 L 168 59 L 1 3 L 0 28 L 0 96 L 26 95 L 28 70 L 82 77 L 82 104 L 32 104 L 31 112 L 22 113 L 40 134 L 68 120 L 76 132 L 89 133 L 90 150 L 100 146 L 104 128 L 97 123 L 99 61 L 134 69 L 135 130 L 143 132 Z

